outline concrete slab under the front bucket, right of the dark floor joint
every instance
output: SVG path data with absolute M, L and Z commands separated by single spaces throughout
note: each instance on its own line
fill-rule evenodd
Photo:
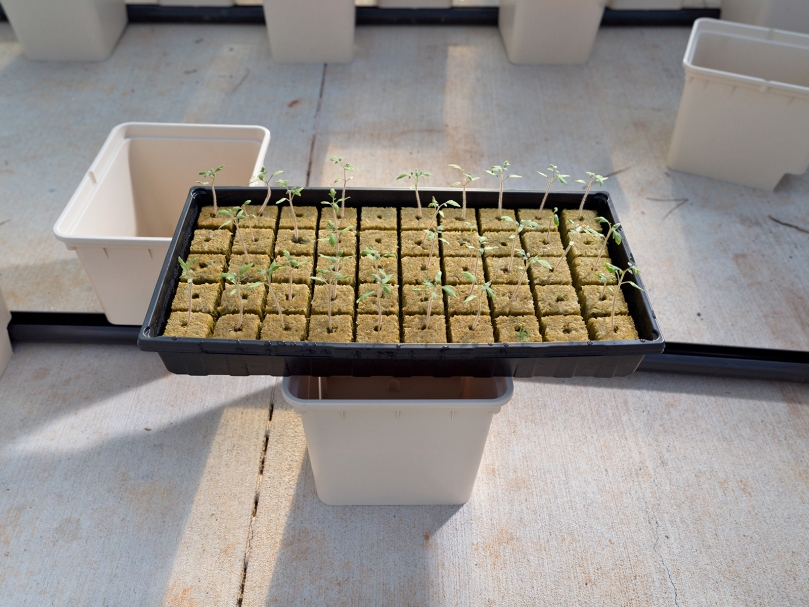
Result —
M 267 462 L 244 607 L 732 607 L 809 595 L 802 385 L 517 381 L 460 507 L 324 505 L 300 417 L 278 398 Z

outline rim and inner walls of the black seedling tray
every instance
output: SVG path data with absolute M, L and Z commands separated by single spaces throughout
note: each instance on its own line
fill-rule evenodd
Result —
M 311 203 L 304 198 L 310 198 L 314 195 L 318 196 L 318 200 L 326 200 L 331 187 L 308 187 L 304 189 L 304 196 L 296 201 L 296 205 L 300 206 L 320 206 L 319 202 Z M 217 198 L 220 206 L 228 206 L 231 204 L 229 201 L 232 197 L 239 197 L 240 200 L 251 199 L 260 204 L 266 196 L 264 188 L 255 187 L 240 187 L 240 186 L 220 186 L 216 188 Z M 273 188 L 274 195 L 280 193 L 278 188 Z M 356 200 L 351 200 L 351 195 L 360 194 L 368 196 L 390 196 L 396 194 L 409 194 L 414 197 L 411 188 L 350 188 L 346 191 L 349 200 L 346 202 L 346 207 L 361 208 L 364 206 L 386 206 L 386 207 L 412 207 L 415 206 L 414 200 L 410 199 L 405 202 L 397 202 L 391 200 L 379 200 L 378 203 L 362 203 L 357 204 Z M 622 341 L 587 341 L 587 342 L 541 342 L 531 344 L 506 344 L 506 343 L 488 343 L 488 344 L 369 344 L 369 343 L 337 343 L 337 342 L 279 342 L 279 341 L 265 341 L 265 340 L 235 340 L 235 339 L 215 339 L 215 338 L 189 338 L 189 337 L 167 337 L 167 336 L 152 336 L 151 325 L 155 321 L 155 315 L 158 311 L 158 303 L 160 300 L 161 291 L 163 290 L 166 282 L 166 277 L 171 271 L 172 262 L 178 257 L 178 248 L 180 237 L 192 220 L 189 219 L 189 214 L 196 210 L 196 207 L 202 207 L 205 203 L 197 203 L 196 199 L 200 196 L 210 196 L 210 186 L 193 186 L 188 192 L 185 206 L 177 222 L 174 235 L 169 245 L 168 253 L 163 262 L 163 267 L 160 270 L 160 276 L 155 285 L 155 290 L 152 294 L 149 308 L 146 313 L 143 325 L 138 333 L 138 347 L 146 352 L 173 352 L 173 353 L 197 353 L 197 354 L 236 354 L 236 355 L 249 355 L 249 356 L 272 356 L 272 357 L 327 357 L 327 358 L 348 358 L 348 359 L 385 359 L 397 358 L 402 360 L 408 359 L 434 359 L 434 360 L 477 360 L 477 359 L 491 359 L 491 358 L 550 358 L 550 357 L 589 357 L 589 356 L 631 356 L 631 355 L 646 355 L 646 354 L 660 354 L 665 348 L 665 340 L 660 326 L 657 323 L 657 317 L 652 309 L 651 302 L 649 301 L 648 294 L 645 290 L 643 279 L 641 275 L 634 277 L 634 281 L 643 288 L 640 291 L 640 297 L 643 302 L 645 310 L 639 310 L 640 313 L 646 313 L 647 322 L 651 325 L 652 333 L 656 334 L 653 339 L 638 339 L 638 340 L 622 340 Z M 451 197 L 452 199 L 458 198 L 460 200 L 460 190 L 457 188 L 419 188 L 419 194 L 422 199 L 422 204 L 426 205 L 432 196 Z M 467 189 L 467 207 L 468 208 L 494 208 L 497 201 L 498 190 L 496 189 L 483 189 L 483 188 L 469 188 Z M 528 205 L 535 206 L 537 197 L 545 195 L 542 190 L 511 190 L 503 194 L 503 208 L 504 209 L 519 209 L 525 208 Z M 548 201 L 545 205 L 546 208 L 553 209 L 559 207 L 559 210 L 564 208 L 578 208 L 582 192 L 551 192 L 548 196 Z M 360 196 L 362 198 L 363 196 Z M 620 223 L 615 207 L 612 204 L 612 198 L 607 191 L 591 191 L 587 197 L 585 209 L 592 209 L 593 202 L 606 205 L 608 209 L 609 219 L 612 223 Z M 272 202 L 270 204 L 273 204 Z M 564 206 L 560 206 L 564 205 Z M 281 206 L 281 205 L 279 205 Z M 603 213 L 602 213 L 603 214 Z M 196 214 L 194 218 L 196 219 Z M 623 224 L 619 228 L 621 233 L 622 243 L 620 248 L 626 253 L 628 260 L 635 263 L 635 257 L 629 247 L 626 234 L 623 229 Z M 610 248 L 614 247 L 614 243 L 610 244 Z M 172 290 L 176 289 L 175 281 L 172 282 Z

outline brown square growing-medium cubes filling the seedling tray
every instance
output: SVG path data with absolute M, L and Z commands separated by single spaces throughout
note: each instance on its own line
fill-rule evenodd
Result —
M 539 213 L 540 200 L 516 212 L 470 207 L 465 219 L 458 208 L 439 217 L 425 200 L 421 218 L 415 206 L 380 200 L 347 207 L 336 220 L 328 206 L 296 203 L 297 238 L 288 205 L 270 205 L 261 217 L 247 205 L 238 232 L 203 207 L 183 254 L 192 283 L 177 282 L 164 335 L 380 344 L 638 339 L 596 214 L 585 209 L 580 219 L 578 209 L 564 209 L 557 228 L 552 209 Z M 517 232 L 503 216 L 535 224 Z M 329 242 L 336 233 L 339 245 Z M 224 273 L 241 273 L 235 293 Z

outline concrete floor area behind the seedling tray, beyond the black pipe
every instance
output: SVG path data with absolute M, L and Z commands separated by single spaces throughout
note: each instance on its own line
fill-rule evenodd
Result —
M 400 186 L 507 159 L 607 182 L 671 341 L 809 349 L 809 176 L 774 193 L 668 171 L 687 28 L 602 28 L 586 66 L 517 67 L 496 28 L 360 27 L 350 65 L 269 59 L 262 27 L 132 25 L 100 64 L 33 63 L 0 24 L 0 287 L 13 310 L 100 311 L 52 226 L 109 131 L 130 120 L 262 124 L 267 164 L 329 185 Z

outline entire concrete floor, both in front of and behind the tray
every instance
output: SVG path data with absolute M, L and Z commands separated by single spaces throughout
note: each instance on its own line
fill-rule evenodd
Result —
M 602 28 L 586 66 L 516 67 L 494 28 L 362 27 L 352 64 L 289 66 L 259 26 L 132 25 L 64 65 L 0 23 L 0 288 L 100 311 L 52 226 L 116 124 L 260 124 L 311 186 L 334 155 L 357 186 L 610 174 L 668 340 L 809 350 L 809 175 L 665 168 L 688 34 Z M 807 519 L 807 384 L 519 380 L 467 504 L 330 507 L 273 378 L 23 343 L 0 379 L 0 605 L 799 605 Z

